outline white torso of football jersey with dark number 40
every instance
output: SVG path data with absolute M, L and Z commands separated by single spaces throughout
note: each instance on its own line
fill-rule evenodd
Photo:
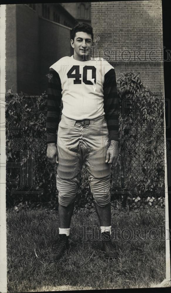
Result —
M 66 56 L 55 62 L 53 68 L 60 76 L 62 86 L 62 113 L 75 120 L 95 119 L 104 115 L 104 75 L 114 69 L 103 58 L 78 61 Z

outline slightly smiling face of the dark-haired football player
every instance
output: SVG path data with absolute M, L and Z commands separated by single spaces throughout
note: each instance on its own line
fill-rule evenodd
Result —
M 77 32 L 71 46 L 74 48 L 74 58 L 82 60 L 88 55 L 90 57 L 92 47 L 92 36 L 84 32 Z M 89 59 L 87 56 L 87 60 Z

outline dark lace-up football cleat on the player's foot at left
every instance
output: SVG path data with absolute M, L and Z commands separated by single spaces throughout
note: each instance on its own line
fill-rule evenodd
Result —
M 69 248 L 69 236 L 66 234 L 59 234 L 59 242 L 54 253 L 50 255 L 50 260 L 59 260 L 64 252 Z

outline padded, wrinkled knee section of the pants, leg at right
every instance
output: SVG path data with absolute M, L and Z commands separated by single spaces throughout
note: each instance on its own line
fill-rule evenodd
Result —
M 105 207 L 109 204 L 110 196 L 110 176 L 105 178 L 90 178 L 90 188 L 93 194 L 94 200 L 100 207 Z

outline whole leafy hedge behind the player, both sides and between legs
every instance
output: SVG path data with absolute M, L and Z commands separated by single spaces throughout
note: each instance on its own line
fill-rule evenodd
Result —
M 152 93 L 143 85 L 139 74 L 122 73 L 117 81 L 119 156 L 111 167 L 111 199 L 113 204 L 119 200 L 129 207 L 138 207 L 142 201 L 152 204 L 149 197 L 164 193 L 164 100 L 161 93 Z M 27 201 L 57 207 L 57 169 L 46 157 L 46 104 L 45 94 L 26 97 L 9 91 L 6 96 L 7 206 Z M 30 183 L 29 178 L 33 178 Z M 22 180 L 26 186 L 21 186 Z M 92 204 L 83 166 L 76 206 Z

